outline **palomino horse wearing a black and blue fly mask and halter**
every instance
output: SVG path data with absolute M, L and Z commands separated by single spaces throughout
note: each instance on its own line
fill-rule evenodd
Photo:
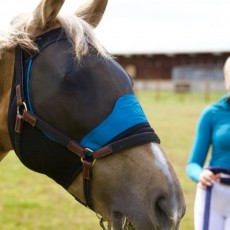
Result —
M 13 149 L 99 214 L 103 229 L 179 229 L 178 177 L 131 77 L 94 34 L 107 0 L 72 15 L 63 4 L 41 0 L 0 35 L 0 159 Z

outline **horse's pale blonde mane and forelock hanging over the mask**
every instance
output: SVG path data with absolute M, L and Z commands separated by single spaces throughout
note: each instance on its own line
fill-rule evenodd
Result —
M 17 45 L 29 50 L 37 50 L 33 38 L 25 31 L 29 19 L 30 15 L 27 14 L 17 16 L 8 31 L 0 33 L 0 55 L 1 50 L 15 48 Z M 111 58 L 97 40 L 94 29 L 84 20 L 75 15 L 59 15 L 57 21 L 72 42 L 76 58 L 81 59 L 85 56 L 89 52 L 89 45 L 93 46 L 101 56 Z

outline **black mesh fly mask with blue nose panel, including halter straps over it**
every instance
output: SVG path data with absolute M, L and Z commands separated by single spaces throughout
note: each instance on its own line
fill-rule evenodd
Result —
M 114 60 L 90 47 L 77 60 L 62 29 L 35 38 L 39 52 L 16 49 L 8 127 L 24 165 L 64 188 L 83 170 L 86 205 L 96 159 L 159 138 Z

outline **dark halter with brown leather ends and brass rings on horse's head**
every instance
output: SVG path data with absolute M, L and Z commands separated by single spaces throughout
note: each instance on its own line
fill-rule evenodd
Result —
M 15 150 L 21 152 L 21 134 L 24 129 L 24 122 L 28 123 L 31 127 L 37 128 L 43 133 L 47 134 L 50 138 L 55 139 L 58 143 L 65 146 L 69 151 L 77 155 L 82 161 L 83 166 L 83 190 L 85 196 L 85 206 L 94 210 L 91 200 L 91 179 L 92 179 L 92 167 L 97 159 L 109 156 L 110 154 L 117 153 L 135 146 L 142 144 L 156 142 L 160 143 L 160 140 L 155 132 L 142 132 L 132 136 L 128 136 L 107 144 L 95 151 L 89 148 L 82 147 L 78 142 L 72 140 L 62 132 L 58 131 L 55 127 L 52 127 L 42 118 L 36 116 L 29 111 L 25 92 L 24 92 L 24 74 L 23 74 L 23 50 L 20 47 L 16 48 L 15 55 L 15 79 L 16 79 L 16 100 L 17 100 L 17 112 L 15 121 Z M 76 198 L 81 202 L 78 198 Z M 82 203 L 82 202 L 81 202 Z

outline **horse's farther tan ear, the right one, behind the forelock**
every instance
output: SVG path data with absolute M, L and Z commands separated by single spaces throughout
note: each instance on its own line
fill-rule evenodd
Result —
M 77 17 L 82 18 L 93 27 L 97 27 L 105 12 L 108 0 L 90 0 L 80 6 L 75 12 Z

